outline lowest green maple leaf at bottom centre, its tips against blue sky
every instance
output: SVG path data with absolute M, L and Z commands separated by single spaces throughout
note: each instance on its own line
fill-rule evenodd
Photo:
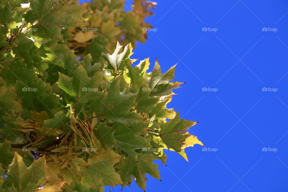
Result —
M 153 164 L 156 158 L 150 154 L 138 154 L 137 161 L 135 161 L 131 157 L 127 157 L 125 159 L 120 159 L 120 163 L 116 164 L 117 173 L 120 174 L 121 180 L 123 182 L 122 188 L 125 185 L 130 186 L 132 176 L 136 179 L 136 184 L 143 190 L 146 188 L 146 173 L 155 177 L 156 179 L 160 179 L 160 173 L 157 170 L 159 167 L 156 164 Z

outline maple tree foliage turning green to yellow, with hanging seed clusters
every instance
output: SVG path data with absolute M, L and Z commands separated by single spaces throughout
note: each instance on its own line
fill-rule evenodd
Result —
M 0 191 L 104 191 L 132 177 L 145 190 L 164 149 L 187 160 L 203 145 L 187 132 L 197 122 L 166 107 L 175 66 L 162 73 L 156 59 L 148 73 L 149 58 L 131 58 L 154 2 L 1 2 Z

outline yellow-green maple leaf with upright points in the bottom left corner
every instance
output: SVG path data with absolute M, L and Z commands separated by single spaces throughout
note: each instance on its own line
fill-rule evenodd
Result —
M 34 160 L 30 167 L 26 167 L 23 158 L 15 152 L 14 159 L 9 165 L 9 177 L 13 180 L 14 187 L 18 192 L 33 192 L 45 178 L 45 156 Z

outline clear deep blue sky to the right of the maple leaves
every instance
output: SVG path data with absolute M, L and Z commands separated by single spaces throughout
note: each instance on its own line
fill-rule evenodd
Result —
M 146 191 L 287 191 L 288 1 L 157 2 L 147 21 L 158 31 L 133 58 L 157 57 L 163 71 L 178 63 L 174 80 L 187 83 L 168 107 L 199 121 L 190 133 L 210 151 L 186 149 L 189 163 L 166 152 L 167 167 L 155 161 L 162 182 L 148 176 Z

